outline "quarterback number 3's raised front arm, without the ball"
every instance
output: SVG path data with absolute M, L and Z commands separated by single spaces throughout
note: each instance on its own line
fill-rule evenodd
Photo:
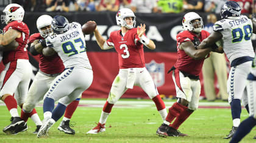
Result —
M 145 24 L 143 24 L 143 25 L 140 24 L 140 27 L 137 27 L 137 34 L 138 34 L 138 37 L 140 38 L 140 42 L 143 45 L 146 45 L 146 47 L 148 47 L 149 49 L 154 50 L 155 49 L 155 43 L 151 39 L 144 36 L 145 32 L 146 32 L 146 25 Z

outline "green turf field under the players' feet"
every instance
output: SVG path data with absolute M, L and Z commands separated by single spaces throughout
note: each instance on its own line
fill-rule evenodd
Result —
M 60 121 L 49 131 L 48 138 L 38 139 L 32 132 L 35 130 L 35 124 L 30 119 L 27 122 L 29 129 L 18 135 L 5 135 L 0 133 L 0 142 L 229 142 L 222 139 L 229 133 L 232 127 L 232 118 L 230 108 L 199 108 L 187 121 L 179 128 L 182 133 L 187 133 L 190 137 L 168 137 L 162 138 L 155 135 L 155 131 L 162 124 L 162 119 L 158 114 L 154 104 L 149 100 L 122 100 L 121 104 L 116 104 L 108 117 L 106 131 L 98 135 L 87 135 L 87 131 L 96 126 L 101 115 L 102 106 L 105 100 L 97 102 L 93 100 L 84 100 L 80 105 L 87 107 L 78 107 L 71 121 L 76 125 L 76 135 L 66 135 L 57 130 Z M 166 101 L 169 107 L 173 102 Z M 218 102 L 215 102 L 218 105 Z M 137 106 L 140 104 L 140 106 Z M 220 103 L 221 104 L 221 103 Z M 222 104 L 228 105 L 224 102 Z M 98 107 L 99 105 L 99 107 Z M 199 105 L 204 105 L 201 102 Z M 206 102 L 206 105 L 207 102 Z M 210 104 L 212 106 L 214 104 Z M 225 106 L 224 105 L 224 106 Z M 43 118 L 43 108 L 37 107 L 38 115 Z M 0 128 L 10 124 L 10 113 L 7 108 L 1 104 Z M 241 119 L 247 118 L 247 112 L 242 110 Z M 256 135 L 254 128 L 249 135 L 241 142 L 256 142 L 252 139 Z

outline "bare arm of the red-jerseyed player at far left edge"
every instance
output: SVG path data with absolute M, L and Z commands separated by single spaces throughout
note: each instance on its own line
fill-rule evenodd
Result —
M 0 45 L 8 45 L 16 38 L 20 38 L 21 33 L 14 29 L 9 29 L 4 35 L 0 35 Z

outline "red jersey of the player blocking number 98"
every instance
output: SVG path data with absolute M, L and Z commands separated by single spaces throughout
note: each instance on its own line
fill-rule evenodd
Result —
M 188 73 L 190 75 L 198 76 L 199 73 L 202 70 L 202 65 L 204 63 L 204 58 L 195 60 L 188 56 L 184 50 L 179 49 L 179 45 L 182 44 L 182 42 L 187 41 L 193 41 L 194 37 L 196 36 L 201 42 L 207 38 L 210 35 L 205 30 L 201 31 L 201 34 L 199 37 L 197 37 L 196 34 L 189 31 L 183 31 L 180 32 L 177 36 L 177 53 L 178 53 L 178 59 L 176 61 L 176 64 L 174 65 L 175 68 L 179 69 L 180 71 L 184 71 L 185 73 Z

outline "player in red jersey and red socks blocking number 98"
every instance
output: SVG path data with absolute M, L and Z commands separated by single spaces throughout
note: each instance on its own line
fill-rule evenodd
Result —
M 172 79 L 176 86 L 177 102 L 169 108 L 165 121 L 157 130 L 158 136 L 187 136 L 177 129 L 193 111 L 197 110 L 199 104 L 199 73 L 210 49 L 197 49 L 197 46 L 210 34 L 202 30 L 202 18 L 194 12 L 183 17 L 182 25 L 184 30 L 176 36 L 179 58 L 169 70 L 173 71 Z

